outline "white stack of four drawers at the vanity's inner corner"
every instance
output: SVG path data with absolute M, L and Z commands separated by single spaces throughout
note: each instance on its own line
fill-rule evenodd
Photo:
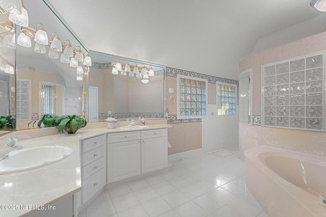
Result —
M 106 184 L 106 137 L 81 141 L 82 203 L 87 202 Z

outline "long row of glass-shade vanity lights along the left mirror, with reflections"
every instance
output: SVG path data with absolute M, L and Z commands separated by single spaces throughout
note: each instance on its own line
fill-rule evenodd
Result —
M 52 33 L 51 37 L 48 38 L 42 23 L 39 23 L 35 29 L 28 26 L 29 17 L 22 0 L 0 0 L 0 7 L 10 13 L 9 20 L 11 22 L 21 26 L 22 33 L 20 33 L 17 38 L 18 45 L 22 47 L 32 47 L 32 38 L 35 41 L 35 52 L 45 54 L 45 46 L 49 46 L 48 57 L 59 59 L 60 56 L 61 63 L 69 64 L 70 67 L 76 68 L 77 80 L 83 80 L 83 76 L 88 75 L 89 67 L 92 65 L 92 59 L 89 56 L 88 51 L 83 53 L 80 46 L 75 46 L 73 48 L 69 40 L 65 40 L 64 44 L 62 44 L 59 35 L 56 32 Z M 8 33 L 3 37 L 3 39 L 0 36 L 0 40 L 2 40 L 0 47 L 15 48 L 15 35 L 12 34 L 12 29 L 14 29 L 13 24 L 10 22 L 2 22 L 0 23 L 0 28 L 0 34 L 4 32 Z M 84 65 L 84 68 L 79 66 L 82 64 Z M 2 68 L 0 67 L 0 70 L 1 69 Z

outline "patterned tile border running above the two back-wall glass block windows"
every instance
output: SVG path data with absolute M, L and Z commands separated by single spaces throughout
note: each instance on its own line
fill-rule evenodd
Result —
M 173 68 L 168 68 L 168 67 L 166 68 L 166 75 L 171 76 L 171 77 L 177 77 L 177 75 L 185 75 L 185 76 L 191 76 L 191 77 L 195 77 L 195 78 L 207 79 L 209 83 L 216 83 L 216 81 L 219 81 L 219 82 L 235 84 L 235 85 L 239 86 L 239 81 L 236 81 L 236 80 L 214 77 L 214 76 L 210 76 L 210 75 L 203 75 L 203 74 L 199 74 L 196 72 L 188 72 L 188 71 L 183 71 L 183 70 L 173 69 Z

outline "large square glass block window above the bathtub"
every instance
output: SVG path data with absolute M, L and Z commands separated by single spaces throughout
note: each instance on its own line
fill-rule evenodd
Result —
M 262 66 L 262 125 L 323 131 L 324 55 Z

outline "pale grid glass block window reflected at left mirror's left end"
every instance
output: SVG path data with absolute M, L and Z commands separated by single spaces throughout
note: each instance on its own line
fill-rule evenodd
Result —
M 29 120 L 30 119 L 30 81 L 18 80 L 16 81 L 16 119 Z

